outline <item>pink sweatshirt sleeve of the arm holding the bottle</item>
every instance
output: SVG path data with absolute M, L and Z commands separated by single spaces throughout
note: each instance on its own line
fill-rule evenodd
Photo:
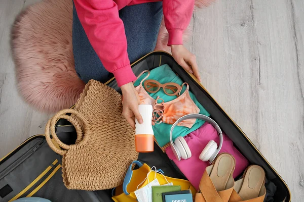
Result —
M 127 54 L 127 39 L 112 0 L 74 0 L 79 20 L 105 69 L 122 86 L 136 79 Z

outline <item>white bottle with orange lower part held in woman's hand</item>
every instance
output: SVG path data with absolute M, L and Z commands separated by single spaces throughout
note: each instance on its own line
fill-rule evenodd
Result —
M 143 123 L 139 124 L 135 119 L 135 149 L 140 153 L 152 152 L 154 151 L 153 107 L 151 105 L 138 105 L 138 110 Z

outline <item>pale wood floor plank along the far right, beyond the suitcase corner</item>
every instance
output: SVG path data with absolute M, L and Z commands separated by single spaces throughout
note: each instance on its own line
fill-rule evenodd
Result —
M 253 1 L 252 10 L 260 56 L 257 126 L 261 151 L 287 182 L 293 200 L 301 201 L 304 162 L 296 154 L 303 154 L 304 99 L 292 5 L 259 0 Z

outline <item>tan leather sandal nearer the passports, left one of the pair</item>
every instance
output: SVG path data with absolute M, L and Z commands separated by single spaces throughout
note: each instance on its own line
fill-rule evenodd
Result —
M 227 202 L 234 190 L 233 172 L 235 158 L 226 153 L 220 154 L 213 165 L 208 166 L 200 181 L 200 189 L 196 193 L 196 202 Z

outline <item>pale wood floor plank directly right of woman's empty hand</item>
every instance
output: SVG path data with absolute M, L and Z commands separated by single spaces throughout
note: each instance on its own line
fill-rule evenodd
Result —
M 250 12 L 248 1 L 218 1 L 196 13 L 193 48 L 203 85 L 237 123 L 243 116 L 250 120 L 241 126 L 252 131 L 250 139 L 258 146 L 251 115 L 257 105 L 258 64 Z

